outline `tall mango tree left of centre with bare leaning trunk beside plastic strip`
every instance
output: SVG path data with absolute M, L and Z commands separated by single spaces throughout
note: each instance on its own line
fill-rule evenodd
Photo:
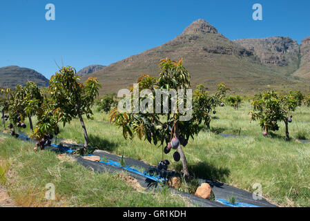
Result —
M 50 95 L 55 105 L 55 112 L 59 115 L 59 121 L 65 126 L 72 118 L 79 117 L 85 140 L 82 154 L 88 147 L 88 134 L 82 115 L 86 115 L 87 118 L 93 115 L 91 107 L 95 97 L 99 95 L 100 86 L 97 79 L 93 77 L 89 77 L 85 84 L 79 83 L 75 68 L 70 66 L 62 67 L 50 78 Z

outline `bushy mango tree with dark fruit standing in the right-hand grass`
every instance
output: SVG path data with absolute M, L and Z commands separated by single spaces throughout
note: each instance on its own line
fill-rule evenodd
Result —
M 251 121 L 260 121 L 263 135 L 267 135 L 268 131 L 278 131 L 278 122 L 283 121 L 285 124 L 286 139 L 289 137 L 289 123 L 292 122 L 291 113 L 296 110 L 298 100 L 293 93 L 289 95 L 278 95 L 272 91 L 267 91 L 255 95 L 252 102 L 253 111 L 250 111 Z

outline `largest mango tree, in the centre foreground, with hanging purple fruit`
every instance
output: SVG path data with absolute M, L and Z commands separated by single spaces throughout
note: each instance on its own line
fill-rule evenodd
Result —
M 178 62 L 162 59 L 159 66 L 161 72 L 158 78 L 142 73 L 136 88 L 128 90 L 127 99 L 124 99 L 126 102 L 120 101 L 121 109 L 118 106 L 110 112 L 110 122 L 122 127 L 125 139 L 137 136 L 142 140 L 144 137 L 151 144 L 165 146 L 166 154 L 173 148 L 173 158 L 175 161 L 182 160 L 184 180 L 187 182 L 190 175 L 182 146 L 186 146 L 189 137 L 193 138 L 200 130 L 197 121 L 191 117 L 191 91 L 186 90 L 190 87 L 190 74 L 184 68 L 182 59 Z M 180 93 L 184 95 L 181 96 L 183 99 L 175 99 L 176 91 L 177 97 Z M 122 109 L 124 104 L 133 106 Z M 136 111 L 135 104 L 139 105 Z M 165 168 L 168 162 L 162 162 Z M 157 166 L 162 168 L 160 163 Z

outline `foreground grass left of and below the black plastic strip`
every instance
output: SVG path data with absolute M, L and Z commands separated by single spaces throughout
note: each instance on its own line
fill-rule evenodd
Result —
M 168 191 L 138 192 L 119 174 L 95 173 L 51 151 L 0 135 L 0 159 L 10 162 L 5 186 L 20 206 L 190 206 Z M 126 174 L 125 174 L 126 175 Z M 46 200 L 46 184 L 55 185 L 55 200 Z

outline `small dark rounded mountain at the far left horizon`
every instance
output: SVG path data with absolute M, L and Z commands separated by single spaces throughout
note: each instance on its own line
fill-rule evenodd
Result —
M 0 68 L 1 88 L 15 88 L 17 84 L 25 86 L 28 80 L 34 81 L 39 87 L 48 86 L 48 79 L 30 68 L 20 68 L 19 66 L 6 66 Z

